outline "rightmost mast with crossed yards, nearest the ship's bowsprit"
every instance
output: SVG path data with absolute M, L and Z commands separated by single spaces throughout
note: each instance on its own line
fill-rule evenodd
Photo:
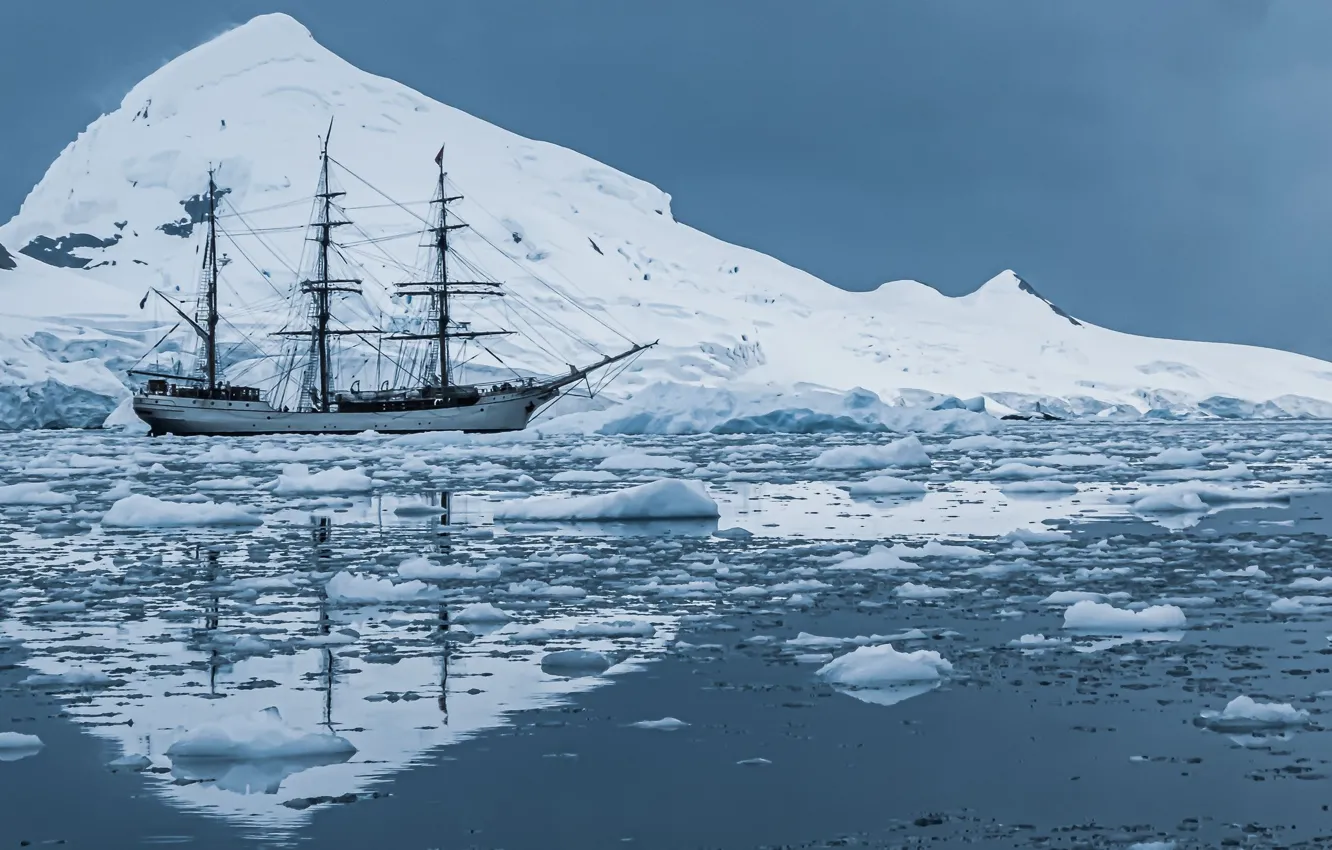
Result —
M 449 224 L 449 204 L 461 201 L 462 196 L 449 195 L 449 175 L 444 171 L 444 148 L 440 148 L 440 153 L 434 157 L 434 164 L 440 167 L 440 176 L 436 185 L 436 196 L 430 201 L 430 205 L 438 205 L 440 212 L 434 218 L 436 222 L 426 230 L 432 234 L 432 240 L 426 242 L 426 246 L 433 249 L 430 280 L 410 281 L 397 285 L 401 294 L 424 294 L 430 297 L 430 314 L 434 317 L 434 328 L 422 333 L 400 333 L 389 338 L 430 340 L 430 342 L 438 349 L 440 388 L 445 389 L 453 385 L 453 360 L 449 350 L 450 340 L 505 336 L 513 332 L 458 329 L 465 328 L 465 325 L 458 325 L 457 328 L 450 326 L 450 324 L 457 325 L 457 322 L 453 322 L 450 314 L 450 296 L 498 296 L 503 293 L 500 292 L 500 284 L 496 281 L 449 280 L 449 233 L 453 230 L 461 230 L 468 225 L 461 222 Z

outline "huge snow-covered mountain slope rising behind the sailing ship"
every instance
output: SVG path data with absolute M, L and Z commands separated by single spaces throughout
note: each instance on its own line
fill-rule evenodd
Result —
M 140 298 L 149 286 L 182 297 L 192 290 L 198 196 L 212 164 L 242 213 L 224 226 L 257 230 L 264 242 L 224 244 L 230 289 L 222 312 L 248 317 L 234 320 L 236 334 L 272 329 L 285 318 L 281 293 L 297 280 L 300 225 L 330 120 L 336 160 L 420 214 L 446 144 L 450 179 L 465 196 L 456 208 L 473 225 L 461 250 L 514 293 L 476 318 L 522 325 L 518 308 L 534 306 L 589 342 L 546 336 L 545 353 L 521 341 L 497 345 L 510 364 L 561 370 L 595 360 L 594 350 L 622 344 L 597 321 L 605 318 L 634 340 L 661 340 L 614 388 L 639 398 L 697 397 L 643 392 L 662 384 L 733 397 L 753 388 L 765 398 L 813 385 L 866 388 L 890 404 L 984 397 L 999 413 L 1332 416 L 1332 364 L 1098 328 L 1012 272 L 958 298 L 915 281 L 840 290 L 675 221 L 670 196 L 655 187 L 354 68 L 284 15 L 257 17 L 170 61 L 65 148 L 0 226 L 0 242 L 19 261 L 0 280 L 16 277 L 9 288 L 28 293 L 25 309 L 36 314 L 67 324 L 80 314 L 83 324 L 71 326 L 151 341 L 152 329 L 174 317 L 155 320 Z M 341 183 L 361 230 L 349 254 L 382 284 L 404 280 L 420 260 L 408 233 L 417 222 L 360 181 Z M 360 309 L 396 306 L 368 285 Z

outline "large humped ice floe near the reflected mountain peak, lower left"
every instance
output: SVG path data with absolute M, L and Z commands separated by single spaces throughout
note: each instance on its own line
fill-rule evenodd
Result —
M 228 715 L 181 730 L 176 742 L 166 747 L 166 755 L 172 759 L 348 758 L 354 753 L 352 742 L 341 735 L 289 726 L 272 706 L 253 714 Z

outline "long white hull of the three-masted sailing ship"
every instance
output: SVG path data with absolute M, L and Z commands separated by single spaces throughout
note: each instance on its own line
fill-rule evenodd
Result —
M 284 412 L 265 401 L 135 396 L 135 413 L 156 434 L 358 434 L 374 430 L 405 434 L 430 430 L 522 430 L 531 416 L 557 393 L 526 388 L 488 393 L 473 405 L 421 410 Z

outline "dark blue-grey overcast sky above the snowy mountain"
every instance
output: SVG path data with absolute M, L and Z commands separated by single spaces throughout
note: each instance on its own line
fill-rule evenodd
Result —
M 0 220 L 137 80 L 270 11 L 840 286 L 1011 266 L 1099 324 L 1332 356 L 1327 0 L 11 3 Z

